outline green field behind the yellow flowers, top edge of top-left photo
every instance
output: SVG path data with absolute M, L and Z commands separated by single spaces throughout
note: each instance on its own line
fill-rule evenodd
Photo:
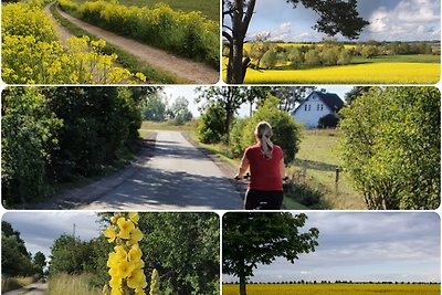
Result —
M 72 0 L 75 3 L 83 3 L 91 0 Z M 124 6 L 136 7 L 154 7 L 156 3 L 166 3 L 175 10 L 182 10 L 185 12 L 201 11 L 209 19 L 220 21 L 220 1 L 219 0 L 119 0 L 118 3 Z

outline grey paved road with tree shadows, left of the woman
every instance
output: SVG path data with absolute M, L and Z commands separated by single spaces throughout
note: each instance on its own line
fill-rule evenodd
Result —
M 154 156 L 134 176 L 78 209 L 241 209 L 241 197 L 230 177 L 180 133 L 160 130 Z

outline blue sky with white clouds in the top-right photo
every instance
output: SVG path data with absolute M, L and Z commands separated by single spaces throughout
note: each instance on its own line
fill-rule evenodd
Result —
M 361 41 L 440 40 L 440 0 L 359 0 L 358 11 L 370 22 Z M 272 40 L 322 41 L 326 35 L 312 29 L 316 20 L 302 4 L 292 9 L 286 1 L 257 0 L 248 39 L 270 32 Z

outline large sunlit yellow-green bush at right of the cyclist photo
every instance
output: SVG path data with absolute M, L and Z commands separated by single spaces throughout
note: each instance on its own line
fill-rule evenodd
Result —
M 340 158 L 369 209 L 439 207 L 440 98 L 435 87 L 372 87 L 340 112 Z

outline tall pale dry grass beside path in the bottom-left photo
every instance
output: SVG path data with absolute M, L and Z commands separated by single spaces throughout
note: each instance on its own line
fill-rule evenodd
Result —
M 102 289 L 91 285 L 92 275 L 59 274 L 48 283 L 48 295 L 101 295 Z

